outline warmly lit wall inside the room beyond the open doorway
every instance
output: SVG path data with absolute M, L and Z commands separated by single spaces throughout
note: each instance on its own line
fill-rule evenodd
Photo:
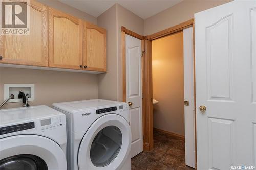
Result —
M 183 32 L 152 41 L 154 127 L 184 135 Z

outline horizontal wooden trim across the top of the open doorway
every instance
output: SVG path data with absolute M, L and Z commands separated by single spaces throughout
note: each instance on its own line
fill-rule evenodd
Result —
M 176 25 L 176 26 L 167 28 L 165 30 L 159 31 L 157 33 L 145 36 L 145 39 L 147 39 L 147 40 L 154 40 L 154 39 L 157 39 L 157 38 L 161 38 L 161 37 L 164 37 L 166 35 L 170 35 L 170 34 L 179 32 L 181 30 L 184 30 L 184 29 L 186 29 L 188 27 L 193 27 L 193 24 L 194 24 L 194 18 L 190 19 L 188 21 L 182 22 L 179 25 Z

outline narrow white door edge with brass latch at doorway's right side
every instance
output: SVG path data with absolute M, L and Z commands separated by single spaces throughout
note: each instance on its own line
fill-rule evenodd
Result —
M 183 30 L 184 58 L 184 100 L 185 106 L 185 161 L 186 165 L 195 168 L 195 104 L 194 104 L 194 52 L 193 28 Z

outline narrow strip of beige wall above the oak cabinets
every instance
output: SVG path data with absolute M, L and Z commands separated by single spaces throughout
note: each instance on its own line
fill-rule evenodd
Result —
M 42 4 L 46 4 L 49 7 L 55 8 L 57 10 L 73 15 L 75 17 L 89 21 L 93 24 L 97 24 L 97 18 L 95 18 L 94 16 L 88 13 L 82 12 L 71 6 L 68 6 L 67 4 L 61 3 L 60 1 L 57 1 L 57 0 L 37 0 L 37 1 L 41 2 Z

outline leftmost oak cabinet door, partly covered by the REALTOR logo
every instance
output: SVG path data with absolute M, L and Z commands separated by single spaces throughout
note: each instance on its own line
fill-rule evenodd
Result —
M 48 66 L 48 7 L 30 0 L 29 8 L 29 35 L 0 34 L 0 63 Z

